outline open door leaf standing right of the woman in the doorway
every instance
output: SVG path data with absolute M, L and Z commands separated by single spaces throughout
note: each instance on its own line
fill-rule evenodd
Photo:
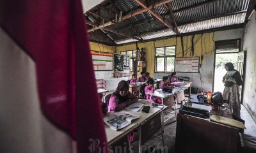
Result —
M 243 104 L 243 87 L 245 78 L 246 51 L 237 54 L 237 71 L 241 74 L 243 84 L 239 87 L 240 101 Z

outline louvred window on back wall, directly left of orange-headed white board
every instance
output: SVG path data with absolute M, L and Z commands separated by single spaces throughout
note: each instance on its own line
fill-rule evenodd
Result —
M 158 47 L 155 54 L 155 72 L 174 71 L 175 46 Z

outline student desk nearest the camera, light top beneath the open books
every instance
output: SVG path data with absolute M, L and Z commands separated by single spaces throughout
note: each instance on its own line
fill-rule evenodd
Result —
M 141 100 L 139 101 L 139 103 L 145 103 L 145 106 L 150 106 L 150 111 L 148 113 L 145 112 L 134 112 L 131 110 L 125 110 L 127 112 L 131 112 L 135 115 L 140 115 L 140 119 L 134 120 L 134 122 L 132 122 L 129 126 L 120 129 L 119 131 L 115 131 L 111 128 L 109 128 L 109 126 L 105 125 L 105 131 L 106 131 L 106 136 L 107 136 L 107 141 L 108 141 L 108 145 L 109 148 L 111 148 L 111 145 L 116 146 L 116 144 L 122 142 L 122 140 L 127 140 L 127 135 L 129 133 L 131 133 L 134 129 L 139 128 L 139 152 L 141 152 L 141 145 L 143 145 L 143 143 L 145 143 L 145 141 L 152 136 L 152 133 L 148 133 L 147 130 L 145 130 L 145 127 L 148 127 L 148 123 L 150 123 L 150 125 L 154 126 L 155 128 L 157 128 L 157 130 L 159 129 L 157 125 L 159 125 L 158 122 L 155 122 L 157 117 L 160 117 L 161 112 L 163 112 L 163 110 L 165 110 L 167 108 L 167 106 L 165 106 L 164 108 L 157 108 L 157 107 L 153 107 L 152 103 L 149 101 L 145 101 L 145 100 Z M 108 117 L 109 115 L 112 115 L 113 112 L 109 112 L 106 114 L 106 117 Z M 153 124 L 152 124 L 153 122 Z M 161 124 L 160 124 L 161 125 Z M 153 127 L 153 129 L 154 129 Z M 163 131 L 163 126 L 161 126 L 162 131 Z M 151 131 L 154 131 L 154 130 Z M 163 138 L 163 135 L 162 135 Z M 164 142 L 163 142 L 164 143 Z M 113 147 L 112 147 L 113 148 Z M 115 152 L 115 149 L 113 150 Z

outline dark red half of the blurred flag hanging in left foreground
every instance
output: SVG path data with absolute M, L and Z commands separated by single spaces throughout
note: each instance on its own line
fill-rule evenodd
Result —
M 0 24 L 36 62 L 47 119 L 77 139 L 78 152 L 106 148 L 81 1 L 1 1 Z

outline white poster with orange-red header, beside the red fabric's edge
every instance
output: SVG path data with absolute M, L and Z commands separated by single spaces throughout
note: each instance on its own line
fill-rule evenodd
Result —
M 91 51 L 94 71 L 113 70 L 113 53 Z

